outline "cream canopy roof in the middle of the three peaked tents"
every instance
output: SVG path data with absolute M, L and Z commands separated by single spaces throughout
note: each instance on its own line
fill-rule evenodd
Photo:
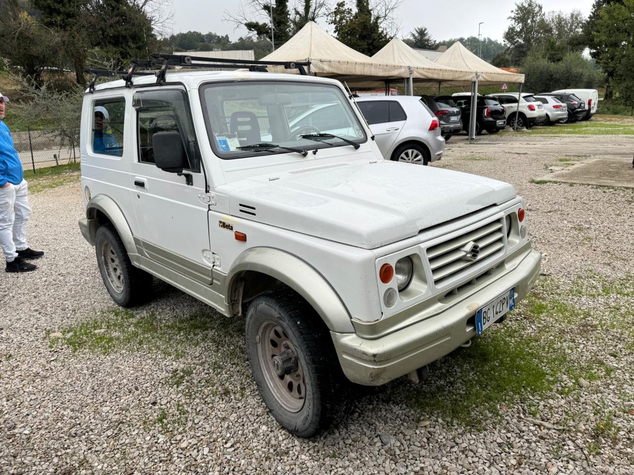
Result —
M 379 63 L 411 66 L 412 77 L 418 83 L 429 80 L 430 83 L 458 81 L 462 84 L 475 80 L 474 72 L 434 63 L 397 38 L 382 47 L 372 59 Z

